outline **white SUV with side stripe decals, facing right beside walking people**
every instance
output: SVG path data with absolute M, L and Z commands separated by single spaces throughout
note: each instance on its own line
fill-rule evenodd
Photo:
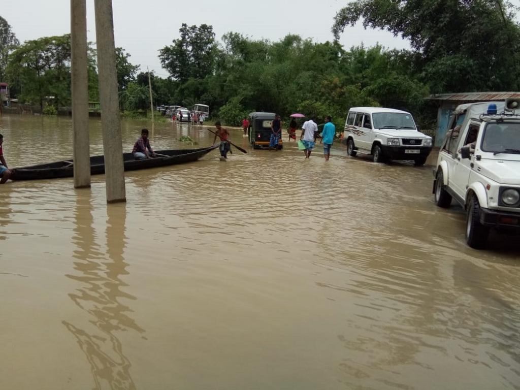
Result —
M 413 160 L 424 165 L 432 151 L 432 137 L 419 132 L 412 114 L 381 107 L 351 108 L 343 143 L 348 155 L 372 154 L 374 162 Z

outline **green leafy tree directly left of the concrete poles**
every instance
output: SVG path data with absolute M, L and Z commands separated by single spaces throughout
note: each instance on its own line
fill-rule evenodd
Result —
M 9 56 L 8 80 L 22 85 L 19 98 L 39 103 L 54 97 L 56 106 L 70 102 L 70 34 L 27 41 Z

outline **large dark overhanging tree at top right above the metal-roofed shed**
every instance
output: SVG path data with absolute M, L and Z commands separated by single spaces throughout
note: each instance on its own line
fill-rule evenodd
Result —
M 407 38 L 418 54 L 416 68 L 432 92 L 518 87 L 520 29 L 510 3 L 356 0 L 337 13 L 332 29 L 336 38 L 359 20 L 365 28 Z

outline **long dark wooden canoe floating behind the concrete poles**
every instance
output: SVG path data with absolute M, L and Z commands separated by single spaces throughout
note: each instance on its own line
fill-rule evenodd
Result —
M 156 150 L 155 153 L 162 154 L 154 159 L 135 160 L 132 153 L 124 153 L 125 171 L 137 171 L 160 166 L 184 164 L 199 160 L 204 154 L 218 148 L 217 145 L 199 149 L 170 149 Z M 74 176 L 74 161 L 63 160 L 54 163 L 24 166 L 15 168 L 11 180 L 39 180 L 56 179 Z M 97 155 L 90 157 L 90 174 L 100 175 L 105 173 L 105 156 Z

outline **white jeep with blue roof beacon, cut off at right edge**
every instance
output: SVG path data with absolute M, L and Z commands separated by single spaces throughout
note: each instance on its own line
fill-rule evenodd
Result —
M 466 242 L 475 249 L 492 227 L 520 232 L 520 115 L 508 106 L 520 101 L 459 106 L 434 171 L 435 203 L 464 207 Z

